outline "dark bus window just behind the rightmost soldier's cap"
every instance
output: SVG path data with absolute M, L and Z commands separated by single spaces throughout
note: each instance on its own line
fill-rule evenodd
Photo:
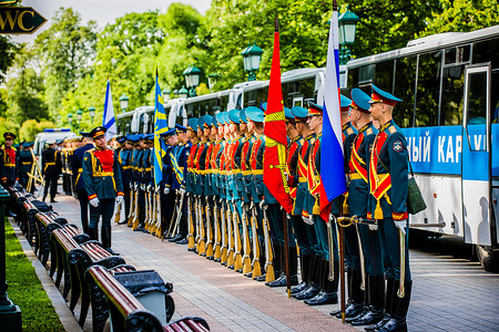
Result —
M 395 89 L 394 94 L 401 98 L 397 103 L 394 120 L 400 127 L 413 126 L 414 93 L 416 85 L 416 56 L 398 59 L 395 62 Z M 379 86 L 388 90 L 390 86 Z

